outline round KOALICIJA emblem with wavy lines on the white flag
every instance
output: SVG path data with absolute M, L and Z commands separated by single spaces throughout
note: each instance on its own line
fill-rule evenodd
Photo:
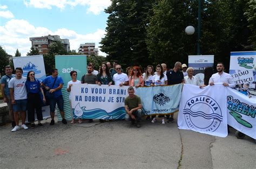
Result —
M 190 98 L 183 109 L 188 128 L 214 132 L 223 121 L 219 104 L 209 96 L 201 95 Z

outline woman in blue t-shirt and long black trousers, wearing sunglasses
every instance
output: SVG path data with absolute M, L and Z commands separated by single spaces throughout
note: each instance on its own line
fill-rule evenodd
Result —
M 26 76 L 26 91 L 28 92 L 28 121 L 31 122 L 31 128 L 35 128 L 35 109 L 37 115 L 38 126 L 42 127 L 42 101 L 40 92 L 43 95 L 43 102 L 45 103 L 44 91 L 39 80 L 35 78 L 35 72 L 29 71 Z

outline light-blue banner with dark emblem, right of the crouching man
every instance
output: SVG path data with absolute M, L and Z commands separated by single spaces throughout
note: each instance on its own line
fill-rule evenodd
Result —
M 139 87 L 136 95 L 142 100 L 145 115 L 170 114 L 179 109 L 182 84 Z

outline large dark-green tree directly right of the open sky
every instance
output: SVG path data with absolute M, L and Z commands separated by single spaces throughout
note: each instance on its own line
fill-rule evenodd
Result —
M 113 0 L 105 10 L 110 16 L 100 48 L 107 53 L 108 60 L 119 60 L 124 66 L 149 64 L 145 38 L 153 2 Z

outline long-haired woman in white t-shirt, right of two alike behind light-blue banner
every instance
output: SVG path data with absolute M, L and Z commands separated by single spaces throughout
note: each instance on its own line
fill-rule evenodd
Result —
M 154 86 L 166 86 L 168 85 L 167 76 L 163 73 L 163 67 L 161 65 L 156 66 L 156 74 L 153 75 Z M 156 116 L 152 116 L 152 123 L 156 122 Z M 165 124 L 164 117 L 161 120 L 162 124 Z

